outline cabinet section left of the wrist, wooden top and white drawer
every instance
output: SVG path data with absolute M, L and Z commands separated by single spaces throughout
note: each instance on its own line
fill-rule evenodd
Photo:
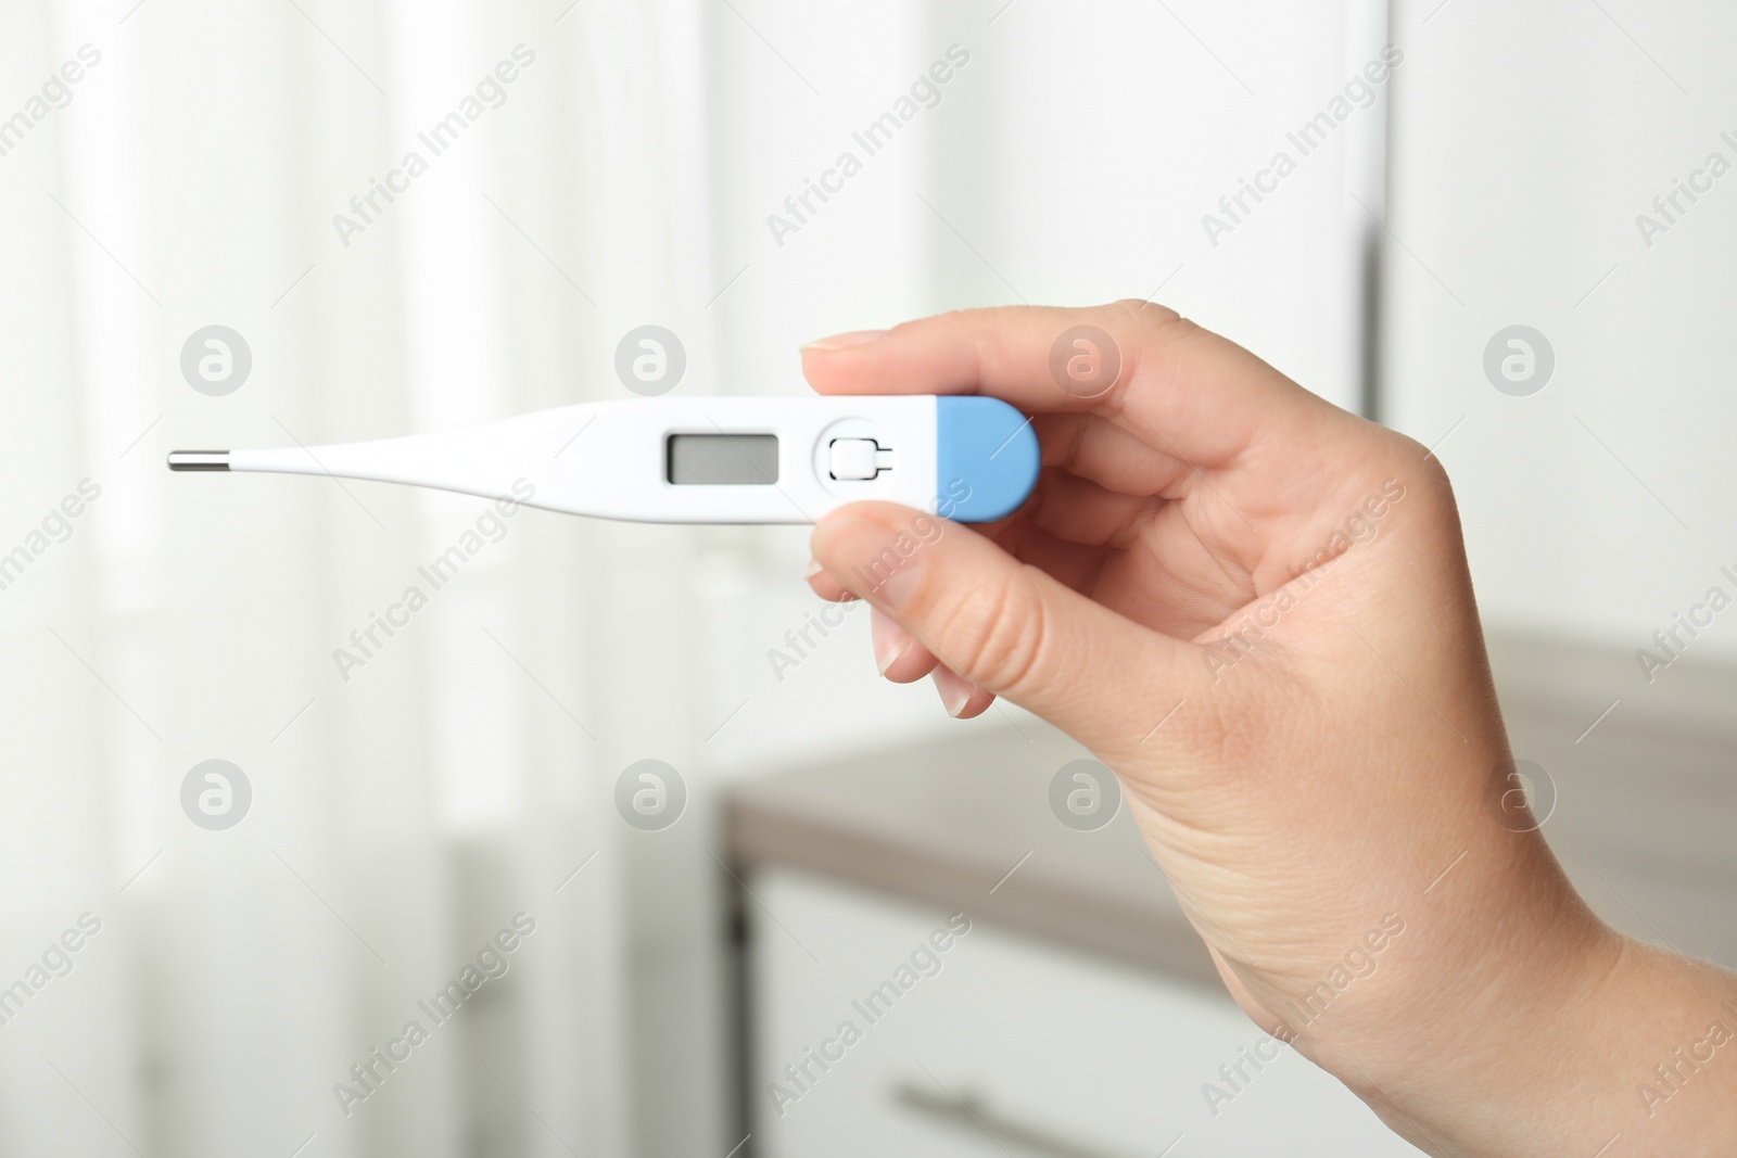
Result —
M 733 790 L 752 1153 L 1416 1153 L 1230 1002 L 1126 811 L 1056 819 L 1080 755 L 1020 715 Z

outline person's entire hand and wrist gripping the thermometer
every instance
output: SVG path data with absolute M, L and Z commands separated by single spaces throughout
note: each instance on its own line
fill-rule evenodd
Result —
M 1091 396 L 1051 370 L 1075 326 L 1120 361 Z M 1256 1023 L 1431 1153 L 1734 1151 L 1737 1043 L 1669 1104 L 1636 1085 L 1721 997 L 1737 1033 L 1737 981 L 1610 932 L 1516 823 L 1423 446 L 1143 302 L 943 314 L 816 342 L 802 368 L 823 394 L 981 392 L 1034 417 L 1020 512 L 971 530 L 844 507 L 811 583 L 870 601 L 889 679 L 933 672 L 954 715 L 1006 696 L 1115 769 Z M 1695 1149 L 1721 1097 L 1725 1149 Z

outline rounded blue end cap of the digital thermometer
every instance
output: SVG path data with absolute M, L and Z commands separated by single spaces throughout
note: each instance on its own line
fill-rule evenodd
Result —
M 999 398 L 935 399 L 936 512 L 959 523 L 994 523 L 1037 486 L 1032 420 Z

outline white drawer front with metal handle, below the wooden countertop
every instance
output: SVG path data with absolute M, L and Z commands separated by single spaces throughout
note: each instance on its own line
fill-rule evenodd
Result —
M 750 887 L 761 1155 L 1419 1153 L 1228 997 L 822 877 Z

